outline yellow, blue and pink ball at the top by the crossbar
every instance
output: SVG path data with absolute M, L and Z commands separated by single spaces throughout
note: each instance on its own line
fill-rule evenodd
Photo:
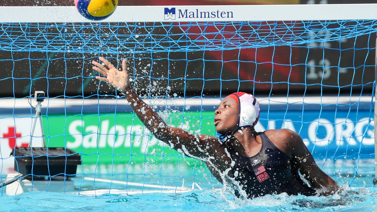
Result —
M 75 0 L 75 5 L 85 18 L 100 21 L 109 17 L 118 5 L 118 0 Z

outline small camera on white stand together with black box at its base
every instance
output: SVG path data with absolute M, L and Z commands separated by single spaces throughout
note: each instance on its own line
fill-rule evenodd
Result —
M 45 98 L 44 91 L 35 91 L 34 98 L 35 101 L 37 101 L 35 108 L 29 102 L 31 107 L 35 109 L 35 117 L 32 117 L 33 120 L 30 131 L 29 145 L 28 147 L 15 146 L 11 152 L 11 155 L 14 156 L 15 160 L 14 171 L 23 176 L 22 178 L 18 177 L 15 179 L 18 179 L 19 181 L 26 179 L 30 180 L 34 184 L 37 183 L 38 189 L 44 187 L 55 188 L 61 185 L 61 183 L 51 183 L 51 179 L 62 181 L 61 178 L 56 177 L 64 177 L 65 185 L 68 177 L 76 175 L 77 165 L 81 165 L 81 155 L 71 149 L 67 149 L 66 147 L 46 147 L 41 114 L 42 102 Z M 38 120 L 41 136 L 34 136 L 35 127 Z M 42 144 L 39 145 L 43 147 L 35 144 L 34 139 L 38 137 L 42 139 Z M 34 144 L 32 141 L 34 141 Z M 46 177 L 48 177 L 49 180 L 46 180 L 48 179 Z M 52 184 L 52 186 L 50 184 Z M 24 186 L 26 183 L 18 185 Z M 19 189 L 17 187 L 18 185 L 15 186 L 15 190 Z M 70 181 L 70 185 L 74 187 L 72 180 Z M 34 187 L 34 185 L 32 185 L 32 187 Z

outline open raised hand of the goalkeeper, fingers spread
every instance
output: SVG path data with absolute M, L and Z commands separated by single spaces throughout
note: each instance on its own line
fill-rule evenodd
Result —
M 129 84 L 126 60 L 122 61 L 122 71 L 119 71 L 113 65 L 111 65 L 111 63 L 107 61 L 105 58 L 99 58 L 103 63 L 105 63 L 107 68 L 96 61 L 92 61 L 92 64 L 95 65 L 93 66 L 93 70 L 105 76 L 96 76 L 95 78 L 111 84 L 116 89 L 118 89 L 118 91 L 123 93 L 126 90 L 127 85 Z

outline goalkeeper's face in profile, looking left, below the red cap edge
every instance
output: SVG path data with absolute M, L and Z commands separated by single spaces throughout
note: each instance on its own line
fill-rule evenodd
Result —
M 231 97 L 225 97 L 215 111 L 216 132 L 224 135 L 233 132 L 238 125 L 238 103 Z

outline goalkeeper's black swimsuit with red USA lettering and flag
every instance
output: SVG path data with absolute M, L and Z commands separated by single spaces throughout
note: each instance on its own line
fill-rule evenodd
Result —
M 232 167 L 235 180 L 239 182 L 248 197 L 283 192 L 288 195 L 315 195 L 315 190 L 300 178 L 297 167 L 292 164 L 295 162 L 278 149 L 264 132 L 259 135 L 262 139 L 262 148 L 253 157 L 242 156 L 231 144 L 227 145 L 230 156 L 235 162 Z M 239 196 L 238 190 L 235 193 Z

